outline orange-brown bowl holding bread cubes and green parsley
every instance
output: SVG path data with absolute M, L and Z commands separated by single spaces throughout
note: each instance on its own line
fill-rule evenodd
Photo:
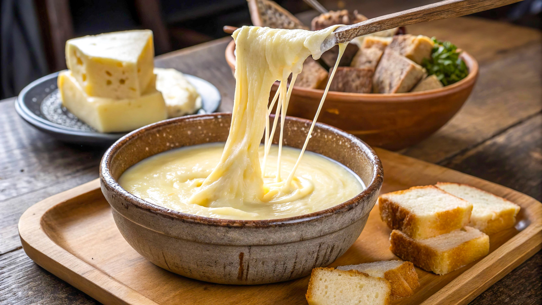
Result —
M 235 41 L 225 56 L 235 72 Z M 347 93 L 330 91 L 318 121 L 355 135 L 370 145 L 398 150 L 416 144 L 437 131 L 455 115 L 469 97 L 478 78 L 478 62 L 461 53 L 469 74 L 455 84 L 408 93 Z M 270 93 L 273 98 L 279 84 Z M 324 90 L 295 87 L 288 115 L 313 119 Z

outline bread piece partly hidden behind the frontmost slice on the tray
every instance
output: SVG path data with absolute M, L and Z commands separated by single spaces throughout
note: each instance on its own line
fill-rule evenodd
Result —
M 420 287 L 414 264 L 403 260 L 382 260 L 359 265 L 339 266 L 339 270 L 358 270 L 370 276 L 382 277 L 391 284 L 391 297 L 409 297 Z

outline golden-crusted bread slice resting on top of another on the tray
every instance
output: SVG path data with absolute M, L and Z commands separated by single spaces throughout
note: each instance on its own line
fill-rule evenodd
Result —
M 473 205 L 436 186 L 415 186 L 378 198 L 380 218 L 412 238 L 428 238 L 469 223 Z

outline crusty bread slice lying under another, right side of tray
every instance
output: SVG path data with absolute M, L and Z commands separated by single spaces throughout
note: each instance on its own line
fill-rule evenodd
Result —
M 423 270 L 447 274 L 489 253 L 489 236 L 473 227 L 425 239 L 391 231 L 390 250 Z

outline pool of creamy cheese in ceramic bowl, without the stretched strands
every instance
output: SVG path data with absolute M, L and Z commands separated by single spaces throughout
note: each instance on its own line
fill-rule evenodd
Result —
M 224 143 L 209 143 L 165 151 L 128 168 L 119 184 L 133 195 L 158 206 L 222 219 L 276 219 L 309 214 L 341 204 L 364 188 L 359 177 L 343 164 L 306 151 L 292 181 L 295 191 L 286 196 L 271 194 L 278 153 L 277 145 L 272 145 L 263 178 L 267 193 L 262 200 L 244 202 L 237 208 L 220 206 L 220 201 L 209 207 L 191 203 L 190 197 L 216 167 L 223 150 Z M 259 153 L 262 160 L 263 145 L 260 145 Z M 283 174 L 293 168 L 299 153 L 296 148 L 282 148 Z

